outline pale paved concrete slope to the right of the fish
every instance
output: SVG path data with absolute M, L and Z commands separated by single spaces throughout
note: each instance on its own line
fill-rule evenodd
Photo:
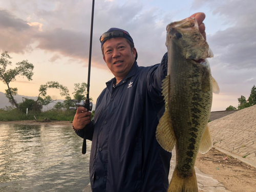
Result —
M 209 122 L 214 146 L 256 165 L 256 105 Z

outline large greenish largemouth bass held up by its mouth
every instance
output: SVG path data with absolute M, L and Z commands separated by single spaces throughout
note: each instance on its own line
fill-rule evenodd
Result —
M 168 75 L 163 80 L 165 113 L 156 138 L 164 150 L 176 144 L 176 167 L 169 191 L 198 191 L 195 161 L 198 151 L 206 153 L 212 146 L 207 126 L 212 91 L 219 92 L 211 77 L 207 57 L 212 53 L 198 29 L 195 18 L 167 26 Z

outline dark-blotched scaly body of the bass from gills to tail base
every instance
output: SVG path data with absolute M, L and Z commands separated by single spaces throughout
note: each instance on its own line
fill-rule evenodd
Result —
M 210 74 L 200 72 L 205 67 L 190 62 L 183 67 L 173 68 L 170 73 L 174 78 L 173 82 L 170 80 L 173 89 L 170 89 L 168 109 L 177 139 L 177 168 L 181 174 L 189 176 L 193 172 L 201 137 L 209 119 L 212 89 Z M 202 81 L 207 78 L 208 82 Z

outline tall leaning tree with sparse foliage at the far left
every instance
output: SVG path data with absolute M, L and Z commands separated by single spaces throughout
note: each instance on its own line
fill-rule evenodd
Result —
M 32 80 L 33 76 L 33 69 L 34 66 L 32 63 L 29 63 L 28 60 L 23 60 L 21 62 L 17 62 L 14 69 L 7 70 L 8 66 L 12 65 L 12 62 L 9 61 L 11 59 L 8 51 L 5 51 L 1 54 L 0 58 L 0 80 L 2 80 L 5 84 L 7 84 L 6 97 L 9 99 L 9 102 L 12 105 L 15 105 L 16 108 L 19 110 L 19 105 L 14 99 L 14 95 L 17 95 L 18 89 L 11 88 L 9 83 L 15 81 L 16 76 L 23 76 L 26 77 L 29 81 Z

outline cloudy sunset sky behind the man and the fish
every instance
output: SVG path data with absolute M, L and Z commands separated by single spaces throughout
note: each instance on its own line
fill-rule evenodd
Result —
M 196 12 L 206 14 L 209 59 L 220 86 L 212 111 L 238 105 L 256 85 L 256 1 L 252 0 L 95 0 L 90 96 L 96 102 L 113 78 L 102 59 L 100 35 L 111 27 L 129 31 L 139 66 L 159 63 L 166 52 L 167 24 Z M 87 82 L 92 0 L 8 0 L 0 2 L 0 51 L 15 63 L 33 63 L 32 81 L 17 78 L 10 86 L 19 95 L 37 96 L 40 84 L 58 81 L 72 93 Z M 0 82 L 0 91 L 6 85 Z M 48 94 L 63 99 L 57 90 Z

